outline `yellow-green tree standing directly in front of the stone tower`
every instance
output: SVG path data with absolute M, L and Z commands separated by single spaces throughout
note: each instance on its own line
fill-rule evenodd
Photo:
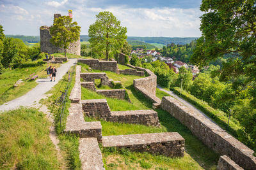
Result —
M 64 48 L 65 57 L 66 51 L 70 43 L 77 41 L 80 36 L 80 29 L 77 22 L 72 22 L 72 18 L 69 16 L 61 16 L 54 19 L 53 26 L 50 27 L 51 43 Z

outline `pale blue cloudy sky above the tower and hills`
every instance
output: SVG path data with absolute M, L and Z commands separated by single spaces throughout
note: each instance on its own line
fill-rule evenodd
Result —
M 39 36 L 42 25 L 52 25 L 54 13 L 68 15 L 81 34 L 100 11 L 111 11 L 127 27 L 127 36 L 199 37 L 200 0 L 0 0 L 4 34 Z

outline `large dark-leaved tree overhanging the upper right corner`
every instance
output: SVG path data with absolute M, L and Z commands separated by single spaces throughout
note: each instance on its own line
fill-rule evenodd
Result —
M 196 41 L 191 62 L 205 66 L 229 54 L 220 80 L 232 80 L 237 95 L 249 83 L 256 87 L 256 1 L 203 0 L 200 10 L 204 11 L 202 36 Z M 251 94 L 256 107 L 256 90 Z

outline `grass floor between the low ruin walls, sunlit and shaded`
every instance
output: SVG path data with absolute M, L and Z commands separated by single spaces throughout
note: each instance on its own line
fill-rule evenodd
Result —
M 87 71 L 87 69 L 84 69 Z M 95 71 L 93 72 L 100 72 Z M 121 110 L 148 110 L 152 109 L 152 103 L 132 85 L 134 78 L 138 76 L 116 74 L 104 71 L 109 78 L 119 80 L 127 90 L 131 103 L 101 96 L 82 87 L 82 99 L 107 99 L 111 111 Z M 161 90 L 156 90 L 156 96 L 161 99 L 163 96 L 170 96 Z M 104 162 L 108 169 L 216 169 L 218 153 L 207 148 L 188 130 L 166 111 L 156 110 L 161 124 L 160 128 L 148 127 L 145 125 L 134 125 L 124 123 L 113 123 L 100 120 L 102 124 L 102 135 L 119 134 L 141 134 L 152 132 L 179 132 L 185 138 L 185 156 L 183 158 L 170 158 L 149 153 L 129 152 L 128 150 L 117 151 L 115 148 L 101 148 Z M 86 121 L 95 121 L 94 118 L 85 118 Z

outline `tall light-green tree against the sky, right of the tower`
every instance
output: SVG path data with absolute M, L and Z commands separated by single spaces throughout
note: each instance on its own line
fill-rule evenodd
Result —
M 122 27 L 121 22 L 109 11 L 100 12 L 96 18 L 95 23 L 89 27 L 89 41 L 92 48 L 98 52 L 105 50 L 108 60 L 109 52 L 116 52 L 124 45 L 127 29 Z

